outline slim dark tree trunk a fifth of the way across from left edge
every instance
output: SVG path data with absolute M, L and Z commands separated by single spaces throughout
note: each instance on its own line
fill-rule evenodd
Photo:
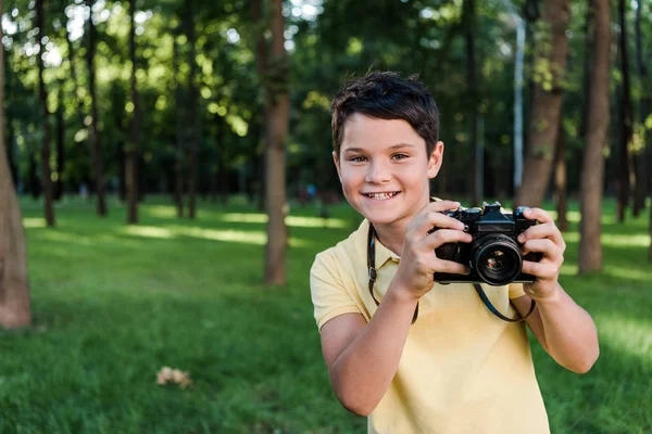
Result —
M 127 188 L 127 224 L 138 224 L 138 165 L 140 157 L 140 97 L 138 95 L 138 84 L 136 81 L 136 0 L 129 0 L 129 58 L 131 60 L 131 103 L 134 115 L 131 117 L 131 140 L 125 150 L 125 184 Z

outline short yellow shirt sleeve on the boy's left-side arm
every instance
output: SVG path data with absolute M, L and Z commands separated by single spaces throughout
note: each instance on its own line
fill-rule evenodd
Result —
M 337 260 L 330 252 L 319 253 L 310 271 L 310 292 L 317 327 L 343 314 L 361 314 L 339 276 Z

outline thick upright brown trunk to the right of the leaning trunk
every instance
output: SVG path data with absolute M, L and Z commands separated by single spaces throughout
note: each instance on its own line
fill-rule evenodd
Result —
M 593 55 L 588 95 L 584 167 L 580 180 L 579 272 L 602 270 L 602 190 L 604 146 L 609 127 L 609 79 L 611 48 L 611 5 L 609 0 L 594 1 Z

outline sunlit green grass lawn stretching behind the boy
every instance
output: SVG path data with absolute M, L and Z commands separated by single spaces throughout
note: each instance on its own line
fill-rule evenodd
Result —
M 93 209 L 63 203 L 48 229 L 23 201 L 35 323 L 0 334 L 0 433 L 364 432 L 330 391 L 308 283 L 314 255 L 356 226 L 347 206 L 327 228 L 292 208 L 289 283 L 274 289 L 261 284 L 264 216 L 247 205 L 202 203 L 179 220 L 148 199 L 137 227 L 118 202 L 105 219 Z M 532 345 L 555 434 L 652 432 L 647 216 L 611 216 L 605 271 L 576 277 L 572 213 L 562 280 L 598 323 L 599 361 L 577 375 Z M 158 385 L 164 366 L 191 386 Z

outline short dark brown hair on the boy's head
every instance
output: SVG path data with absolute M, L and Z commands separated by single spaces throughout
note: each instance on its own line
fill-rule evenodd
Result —
M 380 119 L 403 119 L 426 141 L 428 155 L 439 140 L 439 111 L 428 89 L 416 76 L 401 78 L 392 72 L 373 72 L 344 85 L 333 99 L 333 150 L 339 155 L 344 124 L 354 113 Z

